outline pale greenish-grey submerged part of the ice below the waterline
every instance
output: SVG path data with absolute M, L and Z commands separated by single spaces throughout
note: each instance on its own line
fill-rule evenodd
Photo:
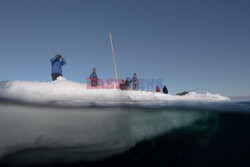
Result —
M 0 162 L 13 154 L 14 166 L 95 161 L 208 117 L 143 108 L 0 104 Z

